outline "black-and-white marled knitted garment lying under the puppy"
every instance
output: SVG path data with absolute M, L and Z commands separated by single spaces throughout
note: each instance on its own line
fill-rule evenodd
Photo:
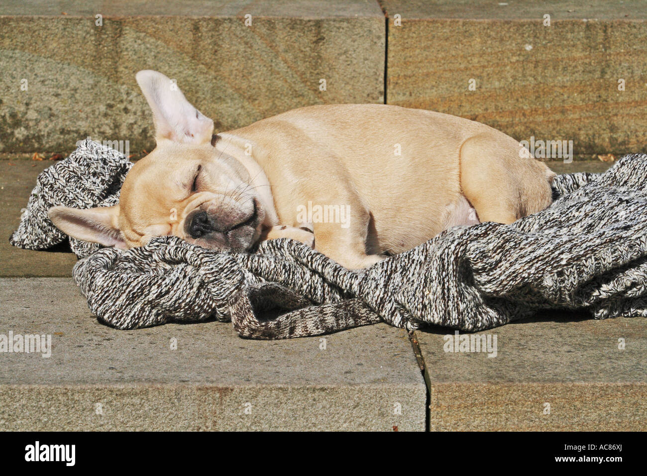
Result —
M 12 244 L 65 239 L 53 205 L 116 203 L 129 163 L 87 141 L 39 176 Z M 485 330 L 542 309 L 595 319 L 647 315 L 647 155 L 604 174 L 558 176 L 554 203 L 512 225 L 454 227 L 406 253 L 349 271 L 292 240 L 253 254 L 214 253 L 160 237 L 120 251 L 72 243 L 90 310 L 119 329 L 231 321 L 241 337 L 283 339 L 386 322 Z

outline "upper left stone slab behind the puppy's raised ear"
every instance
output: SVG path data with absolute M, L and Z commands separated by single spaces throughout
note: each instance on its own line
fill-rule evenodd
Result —
M 150 151 L 141 69 L 176 80 L 217 131 L 382 103 L 384 21 L 374 0 L 0 0 L 0 152 L 70 152 L 87 136 Z

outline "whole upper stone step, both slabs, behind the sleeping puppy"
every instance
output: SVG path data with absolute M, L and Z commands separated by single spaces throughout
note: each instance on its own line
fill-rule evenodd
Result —
M 150 151 L 145 68 L 219 131 L 388 102 L 573 141 L 576 158 L 647 151 L 642 0 L 0 0 L 0 30 L 0 153 L 70 152 L 88 135 Z

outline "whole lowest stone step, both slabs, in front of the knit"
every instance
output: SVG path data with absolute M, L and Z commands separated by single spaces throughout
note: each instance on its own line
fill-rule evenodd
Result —
M 418 331 L 423 381 L 386 324 L 248 341 L 228 323 L 108 328 L 69 278 L 0 278 L 0 299 L 0 339 L 52 339 L 49 357 L 0 352 L 8 430 L 422 430 L 424 381 L 432 431 L 646 429 L 640 318 L 543 313 L 477 333 L 496 353 L 446 352 L 453 332 Z

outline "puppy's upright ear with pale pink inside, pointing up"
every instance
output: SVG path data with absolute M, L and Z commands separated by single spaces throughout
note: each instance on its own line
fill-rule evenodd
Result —
M 214 121 L 186 100 L 175 81 L 162 73 L 145 69 L 135 76 L 153 111 L 155 139 L 201 144 L 210 142 Z

